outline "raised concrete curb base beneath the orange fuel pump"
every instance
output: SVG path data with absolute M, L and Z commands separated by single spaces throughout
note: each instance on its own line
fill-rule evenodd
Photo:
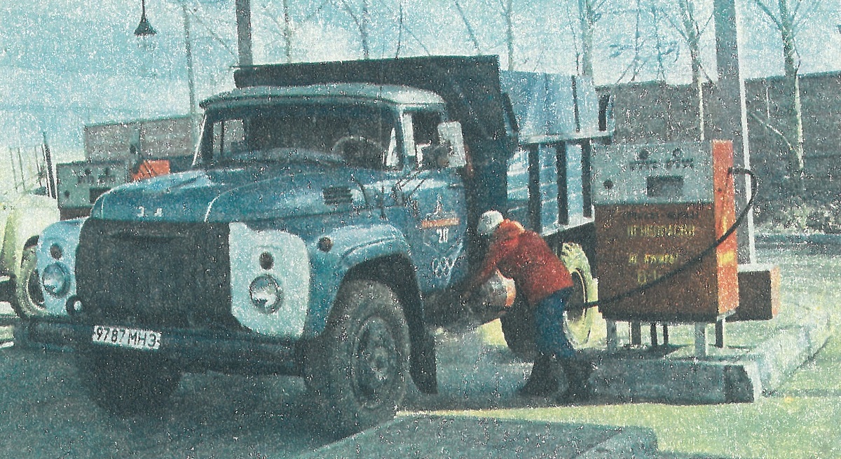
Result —
M 775 330 L 748 351 L 720 350 L 704 358 L 675 357 L 679 348 L 593 352 L 590 386 L 596 401 L 664 404 L 749 403 L 779 387 L 814 356 L 831 334 L 826 316 Z

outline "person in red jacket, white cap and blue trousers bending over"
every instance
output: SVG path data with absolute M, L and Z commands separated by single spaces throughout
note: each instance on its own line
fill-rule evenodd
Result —
M 499 269 L 503 276 L 514 279 L 517 293 L 523 294 L 534 310 L 538 355 L 528 382 L 519 392 L 528 396 L 555 393 L 555 367 L 559 362 L 568 381 L 566 398 L 584 398 L 590 372 L 574 359 L 573 346 L 563 333 L 563 309 L 573 287 L 567 266 L 541 235 L 514 220 L 503 219 L 495 210 L 482 214 L 477 230 L 480 235 L 491 236 L 491 240 L 481 269 L 468 283 L 467 294 Z

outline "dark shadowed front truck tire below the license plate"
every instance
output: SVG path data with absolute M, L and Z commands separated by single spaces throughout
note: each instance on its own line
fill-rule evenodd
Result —
M 77 350 L 77 369 L 93 403 L 123 417 L 156 413 L 181 380 L 181 372 L 158 356 L 93 346 Z

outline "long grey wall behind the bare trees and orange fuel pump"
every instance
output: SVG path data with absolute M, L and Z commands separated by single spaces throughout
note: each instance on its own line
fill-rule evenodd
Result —
M 780 124 L 782 77 L 745 83 L 751 167 L 763 182 L 785 172 L 785 143 L 766 124 Z M 801 76 L 804 162 L 807 190 L 841 192 L 841 72 Z M 698 140 L 696 93 L 689 85 L 643 82 L 601 87 L 614 97 L 617 142 L 649 143 Z M 705 86 L 709 100 L 711 86 Z M 707 117 L 709 109 L 706 110 Z M 770 123 L 767 121 L 770 120 Z M 709 119 L 707 119 L 709 123 Z

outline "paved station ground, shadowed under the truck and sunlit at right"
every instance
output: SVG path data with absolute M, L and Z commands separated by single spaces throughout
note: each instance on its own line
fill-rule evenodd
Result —
M 828 259 L 834 260 L 834 254 Z M 796 261 L 789 267 L 801 269 L 801 276 L 816 281 L 819 277 L 821 282 L 837 284 L 841 277 L 841 273 L 833 271 L 837 266 L 827 269 L 825 264 L 812 261 Z M 836 291 L 795 284 L 794 288 L 788 286 L 785 294 L 790 309 L 808 312 L 816 308 L 834 310 L 834 304 L 841 299 Z M 9 312 L 3 311 L 4 306 L 0 304 L 0 314 Z M 832 316 L 834 319 L 838 314 Z M 0 323 L 3 320 L 0 317 Z M 797 320 L 795 314 L 774 324 L 733 330 L 732 345 L 747 348 L 750 343 L 773 338 L 780 327 L 796 324 Z M 0 328 L 0 337 L 7 332 Z M 471 457 L 456 449 L 463 440 L 478 441 L 480 448 L 493 446 L 499 444 L 500 438 L 491 435 L 488 441 L 486 432 L 515 430 L 511 423 L 522 422 L 526 425 L 524 431 L 533 430 L 540 438 L 557 439 L 552 442 L 556 447 L 563 443 L 561 439 L 569 440 L 575 435 L 579 435 L 579 446 L 599 446 L 598 438 L 619 439 L 623 433 L 636 433 L 624 443 L 623 451 L 631 451 L 625 456 L 841 456 L 837 445 L 841 438 L 841 382 L 835 382 L 841 341 L 834 338 L 806 366 L 791 377 L 783 375 L 785 382 L 779 388 L 753 404 L 699 407 L 597 401 L 565 407 L 556 406 L 551 400 L 517 398 L 514 392 L 524 382 L 529 365 L 516 361 L 503 347 L 489 346 L 486 332 L 439 335 L 441 393 L 433 397 L 410 393 L 395 425 L 362 435 L 373 435 L 369 438 L 375 441 L 390 437 L 414 444 L 407 426 L 414 428 L 421 423 L 423 435 L 436 433 L 436 454 L 422 455 L 421 450 L 413 450 L 404 451 L 405 456 L 439 457 L 444 448 L 453 448 L 447 450 L 457 451 L 452 456 Z M 684 335 L 690 332 L 676 328 L 672 341 L 682 346 Z M 116 419 L 96 409 L 84 397 L 81 376 L 72 365 L 72 356 L 0 348 L 0 458 L 282 458 L 313 451 L 319 451 L 316 456 L 331 451 L 357 451 L 355 444 L 351 450 L 342 450 L 347 442 L 332 444 L 329 437 L 318 433 L 310 422 L 304 385 L 296 378 L 188 375 L 165 413 L 151 418 Z M 447 429 L 441 427 L 442 423 Z M 587 438 L 590 443 L 584 441 Z M 592 441 L 594 438 L 597 440 Z M 652 449 L 654 438 L 659 451 Z M 360 448 L 370 445 L 365 443 Z M 424 445 L 430 446 L 430 442 Z M 635 445 L 644 447 L 634 450 Z M 378 456 L 376 451 L 380 450 L 368 451 L 375 451 L 373 454 Z M 596 447 L 563 451 L 573 457 L 602 450 Z M 529 452 L 540 456 L 542 451 Z M 608 456 L 623 454 L 614 451 Z

